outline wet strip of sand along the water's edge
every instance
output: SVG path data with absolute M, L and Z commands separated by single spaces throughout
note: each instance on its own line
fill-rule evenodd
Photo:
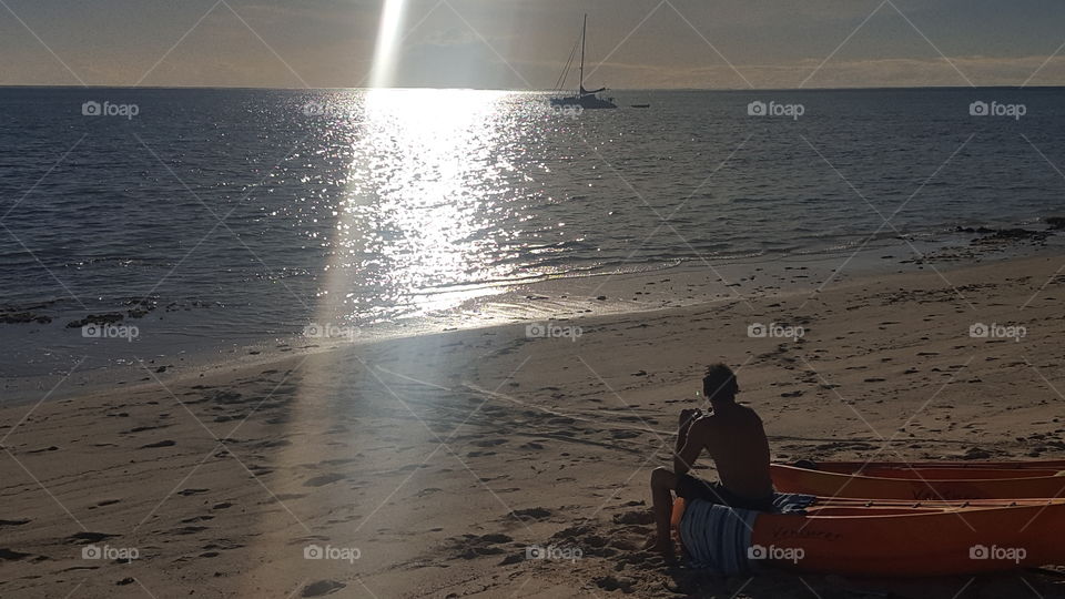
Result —
M 1048 231 L 1042 245 L 1004 243 L 990 247 L 956 245 L 933 241 L 921 247 L 927 260 L 914 260 L 914 248 L 893 240 L 891 245 L 852 253 L 814 253 L 809 255 L 763 255 L 734 262 L 706 265 L 689 262 L 678 265 L 626 273 L 596 273 L 558 276 L 517 285 L 495 285 L 497 293 L 463 302 L 434 316 L 407 318 L 392 326 L 359 328 L 325 323 L 325 327 L 354 331 L 347 342 L 314 338 L 304 335 L 280 335 L 258 341 L 245 339 L 229 346 L 212 345 L 199 352 L 182 351 L 174 355 L 151 354 L 126 364 L 97 366 L 91 369 L 64 369 L 61 373 L 3 377 L 6 403 L 19 405 L 50 398 L 73 398 L 105 393 L 109 387 L 135 388 L 154 385 L 152 373 L 166 384 L 212 376 L 222 372 L 266 366 L 286 356 L 343 351 L 355 346 L 390 343 L 406 337 L 440 335 L 454 331 L 490 329 L 515 324 L 585 319 L 626 314 L 651 313 L 706 303 L 767 298 L 814 293 L 815 288 L 843 281 L 874 280 L 884 275 L 920 273 L 930 268 L 949 273 L 982 263 L 1028 257 L 1065 255 L 1065 236 Z M 885 254 L 885 252 L 889 252 Z M 909 255 L 909 257 L 906 257 Z M 842 258 L 842 260 L 841 260 Z M 834 271 L 840 270 L 839 273 Z M 676 280 L 676 281 L 674 281 Z M 768 281 L 767 281 L 768 280 Z M 656 283 L 663 286 L 649 290 Z M 681 288 L 683 287 L 683 288 Z M 737 291 L 739 290 L 739 291 Z M 604 300 L 600 301 L 599 297 Z M 138 321 L 129 321 L 135 324 Z M 18 327 L 22 325 L 8 325 Z M 17 328 L 9 328 L 17 332 Z M 124 343 L 124 342 L 122 342 Z M 88 352 L 87 352 L 88 355 Z M 73 361 L 73 356 L 71 357 Z M 71 366 L 80 364 L 71 362 Z

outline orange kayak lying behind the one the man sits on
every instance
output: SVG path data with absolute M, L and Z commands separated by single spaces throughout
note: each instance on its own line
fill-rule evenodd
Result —
M 901 500 L 1046 498 L 1065 495 L 1065 469 L 818 464 L 816 470 L 773 464 L 777 490 L 824 497 Z M 861 473 L 861 474 L 856 474 Z

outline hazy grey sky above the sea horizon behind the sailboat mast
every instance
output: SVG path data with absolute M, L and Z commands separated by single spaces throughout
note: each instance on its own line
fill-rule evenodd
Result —
M 588 88 L 1065 84 L 1061 0 L 0 0 L 0 84 L 367 87 L 385 1 L 381 85 L 551 89 L 586 12 Z

